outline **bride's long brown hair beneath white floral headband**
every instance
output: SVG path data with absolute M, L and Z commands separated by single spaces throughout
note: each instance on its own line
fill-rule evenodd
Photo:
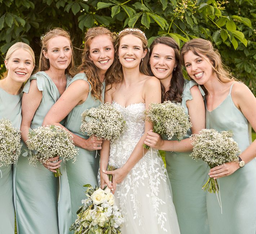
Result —
M 137 28 L 133 28 L 134 30 L 138 30 Z M 121 39 L 126 35 L 133 35 L 138 37 L 142 41 L 142 47 L 143 51 L 148 50 L 147 48 L 147 39 L 140 31 L 133 31 L 133 30 L 125 30 L 119 33 L 116 45 L 115 45 L 115 60 L 112 66 L 112 68 L 109 71 L 109 84 L 119 83 L 123 81 L 123 70 L 122 70 L 122 64 L 119 61 L 118 58 L 118 49 L 120 46 Z M 147 67 L 147 64 L 149 63 L 149 53 L 147 51 L 145 57 L 143 58 L 143 61 L 140 62 L 140 72 L 144 75 L 150 76 L 149 68 Z

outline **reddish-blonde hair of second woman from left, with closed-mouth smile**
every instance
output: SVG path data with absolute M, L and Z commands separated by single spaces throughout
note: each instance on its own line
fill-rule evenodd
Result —
M 49 59 L 46 59 L 44 57 L 43 50 L 45 52 L 47 52 L 48 41 L 50 39 L 52 39 L 53 37 L 57 37 L 57 36 L 66 37 L 69 40 L 69 42 L 70 42 L 70 47 L 71 47 L 71 51 L 72 51 L 71 62 L 69 64 L 69 66 L 65 69 L 65 73 L 67 75 L 73 77 L 74 76 L 74 50 L 73 50 L 73 46 L 72 46 L 72 41 L 71 41 L 71 37 L 70 37 L 69 32 L 63 30 L 62 28 L 53 28 L 52 30 L 50 30 L 47 33 L 45 33 L 44 36 L 42 36 L 42 40 L 41 40 L 41 54 L 40 54 L 39 66 L 38 66 L 37 72 L 49 70 L 50 62 L 49 62 Z

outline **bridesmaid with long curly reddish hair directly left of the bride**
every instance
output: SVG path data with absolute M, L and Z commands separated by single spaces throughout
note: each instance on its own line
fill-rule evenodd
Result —
M 61 99 L 45 116 L 43 124 L 63 126 L 61 120 L 67 116 L 65 127 L 74 136 L 79 148 L 77 161 L 66 162 L 67 179 L 61 178 L 61 200 L 66 214 L 60 233 L 69 233 L 72 222 L 77 218 L 76 211 L 85 198 L 84 184 L 98 185 L 97 173 L 100 157 L 96 150 L 101 149 L 102 139 L 97 140 L 80 132 L 81 113 L 98 107 L 104 100 L 107 72 L 114 61 L 115 34 L 103 27 L 90 28 L 85 35 L 82 64 Z M 45 165 L 48 168 L 48 165 Z M 63 171 L 63 167 L 62 167 Z M 61 215 L 61 214 L 59 214 Z

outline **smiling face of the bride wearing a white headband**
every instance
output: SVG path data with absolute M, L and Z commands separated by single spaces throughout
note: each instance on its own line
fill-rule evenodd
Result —
M 143 50 L 142 41 L 134 35 L 125 35 L 120 40 L 118 49 L 119 61 L 125 68 L 140 66 L 141 59 L 145 57 L 147 50 Z

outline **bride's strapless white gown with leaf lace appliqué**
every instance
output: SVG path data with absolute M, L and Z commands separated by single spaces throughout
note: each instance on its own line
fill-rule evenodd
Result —
M 145 103 L 123 107 L 127 130 L 110 145 L 109 165 L 122 167 L 144 134 Z M 142 150 L 142 149 L 141 149 Z M 116 203 L 125 219 L 122 234 L 179 234 L 169 179 L 158 150 L 150 149 L 116 187 Z

